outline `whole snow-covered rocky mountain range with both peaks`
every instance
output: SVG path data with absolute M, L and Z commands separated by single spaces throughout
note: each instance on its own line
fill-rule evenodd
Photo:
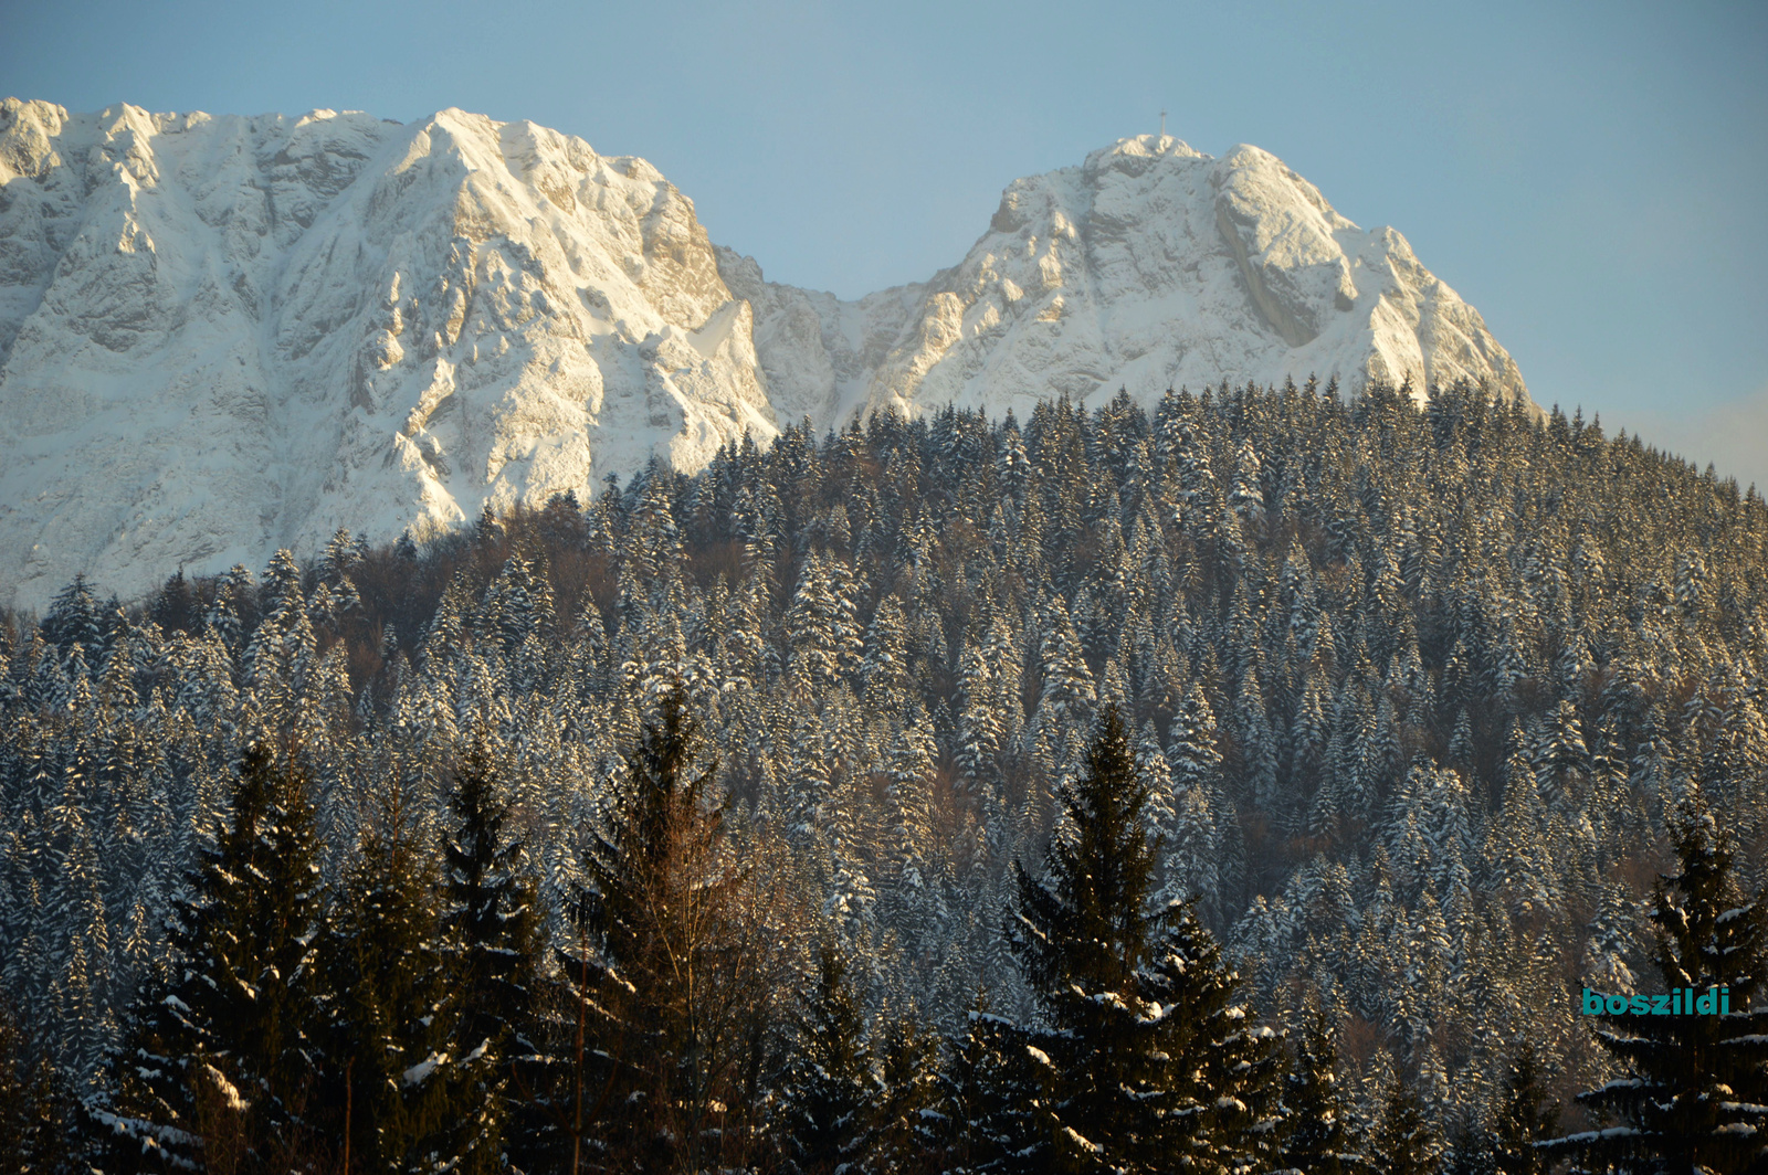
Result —
M 1528 396 L 1404 237 L 1255 147 L 1121 140 L 843 302 L 529 122 L 0 102 L 0 603 L 583 497 L 803 417 L 1310 373 Z

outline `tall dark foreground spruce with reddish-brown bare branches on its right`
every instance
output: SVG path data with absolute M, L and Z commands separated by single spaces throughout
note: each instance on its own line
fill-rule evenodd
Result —
M 674 689 L 589 836 L 580 944 L 560 959 L 580 1027 L 553 1099 L 571 1171 L 700 1170 L 753 1145 L 781 952 L 698 758 Z

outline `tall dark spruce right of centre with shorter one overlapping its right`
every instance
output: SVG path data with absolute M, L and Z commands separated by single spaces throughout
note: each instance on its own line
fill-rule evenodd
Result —
M 1107 707 L 1045 876 L 1017 871 L 1008 940 L 1036 997 L 1054 1090 L 1022 1154 L 1098 1171 L 1229 1171 L 1269 1163 L 1280 1069 L 1275 1034 L 1252 1025 L 1220 947 L 1183 901 L 1149 905 L 1147 785 Z

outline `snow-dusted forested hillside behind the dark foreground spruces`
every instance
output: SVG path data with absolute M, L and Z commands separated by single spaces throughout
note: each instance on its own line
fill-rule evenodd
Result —
M 1528 1042 L 1575 1115 L 1623 1074 L 1577 991 L 1657 974 L 1676 813 L 1763 883 L 1764 550 L 1754 491 L 1581 417 L 1308 385 L 792 429 L 127 608 L 76 581 L 0 624 L 0 988 L 28 1057 L 104 1087 L 255 744 L 343 894 L 389 804 L 446 873 L 477 740 L 553 975 L 679 693 L 732 852 L 868 1023 L 955 1039 L 979 986 L 1034 1023 L 1011 866 L 1116 705 L 1155 906 L 1190 903 L 1292 1042 L 1321 1012 L 1358 1113 L 1411 1087 L 1439 1138 L 1485 1129 Z

